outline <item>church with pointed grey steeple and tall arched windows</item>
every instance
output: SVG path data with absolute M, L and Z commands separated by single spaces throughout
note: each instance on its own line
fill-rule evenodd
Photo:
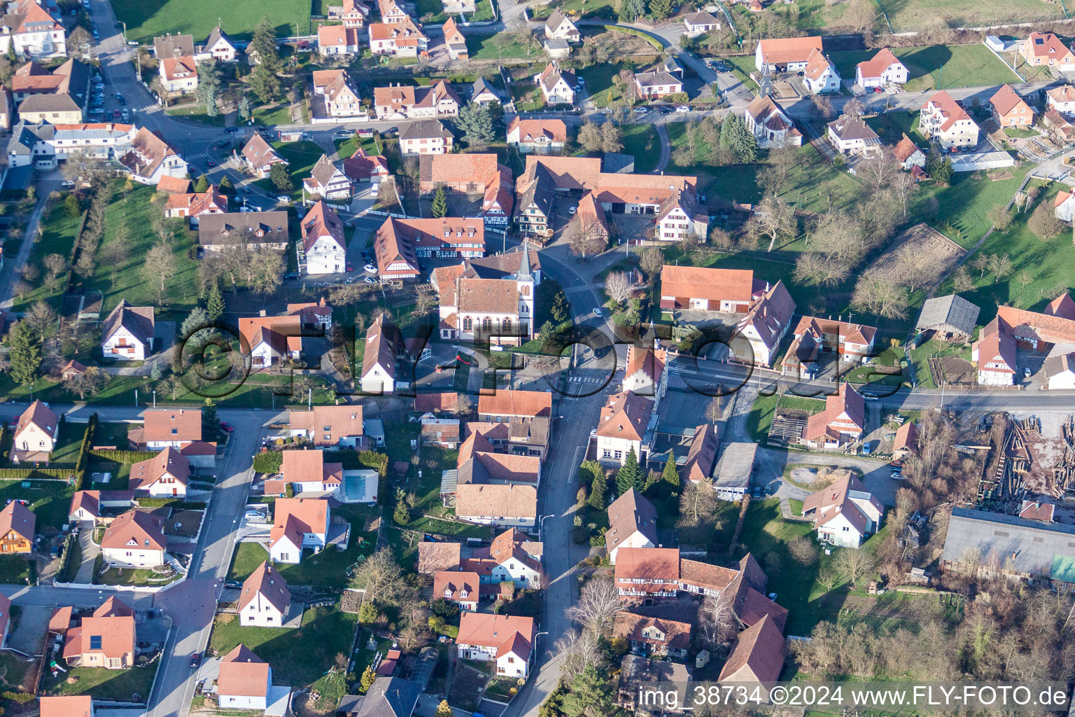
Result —
M 430 283 L 440 297 L 441 339 L 518 346 L 534 338 L 541 260 L 529 243 L 440 267 Z

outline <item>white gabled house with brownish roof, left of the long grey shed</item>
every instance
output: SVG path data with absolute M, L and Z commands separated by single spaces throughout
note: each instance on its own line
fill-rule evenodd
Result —
M 880 501 L 850 471 L 803 501 L 803 517 L 814 518 L 818 539 L 838 547 L 861 546 L 880 528 L 884 514 Z

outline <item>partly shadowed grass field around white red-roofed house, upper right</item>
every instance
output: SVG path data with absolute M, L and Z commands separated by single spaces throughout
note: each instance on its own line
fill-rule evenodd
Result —
M 829 53 L 841 77 L 855 77 L 855 66 L 877 51 Z M 926 45 L 895 47 L 892 53 L 907 66 L 911 76 L 904 89 L 952 89 L 1019 82 L 1019 77 L 985 45 Z

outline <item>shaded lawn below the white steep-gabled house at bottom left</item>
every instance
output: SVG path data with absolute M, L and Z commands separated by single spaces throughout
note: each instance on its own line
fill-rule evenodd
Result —
M 217 615 L 209 647 L 223 656 L 242 643 L 272 665 L 276 684 L 290 685 L 292 689 L 318 689 L 326 706 L 331 701 L 334 707 L 343 694 L 343 680 L 339 676 L 329 679 L 324 673 L 339 656 L 346 660 L 358 627 L 358 615 L 339 607 L 338 603 L 306 610 L 302 626 L 295 630 L 244 628 L 235 615 Z

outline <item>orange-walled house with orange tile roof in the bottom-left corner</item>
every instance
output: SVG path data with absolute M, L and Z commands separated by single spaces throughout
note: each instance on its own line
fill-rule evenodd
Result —
M 109 598 L 91 617 L 84 617 L 77 627 L 68 628 L 63 661 L 69 668 L 132 668 L 134 632 L 134 611 L 116 598 Z

